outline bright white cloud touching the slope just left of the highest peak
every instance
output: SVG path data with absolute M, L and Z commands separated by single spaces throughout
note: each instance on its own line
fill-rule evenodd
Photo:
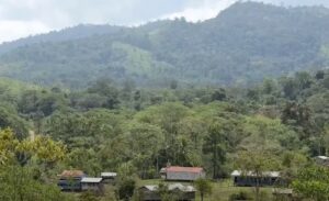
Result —
M 204 21 L 215 18 L 220 11 L 227 9 L 237 0 L 204 0 L 191 2 L 191 5 L 182 11 L 166 14 L 160 19 L 174 19 L 184 16 L 190 22 Z

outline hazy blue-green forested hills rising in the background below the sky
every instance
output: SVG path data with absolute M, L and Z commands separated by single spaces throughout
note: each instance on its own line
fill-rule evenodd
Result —
M 329 10 L 320 7 L 239 2 L 200 23 L 76 29 L 78 36 L 55 34 L 65 40 L 44 35 L 0 46 L 0 76 L 71 88 L 100 77 L 139 86 L 246 85 L 329 66 Z

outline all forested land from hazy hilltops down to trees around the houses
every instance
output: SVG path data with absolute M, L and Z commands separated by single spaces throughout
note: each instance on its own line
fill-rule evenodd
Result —
M 329 170 L 314 160 L 329 155 L 328 67 L 322 7 L 238 2 L 198 23 L 79 25 L 4 43 L 0 201 L 139 201 L 136 189 L 161 182 L 169 164 L 205 169 L 192 183 L 205 201 L 273 200 L 259 187 L 220 191 L 236 169 L 280 171 L 299 200 L 328 200 Z M 118 178 L 103 197 L 64 193 L 65 169 Z

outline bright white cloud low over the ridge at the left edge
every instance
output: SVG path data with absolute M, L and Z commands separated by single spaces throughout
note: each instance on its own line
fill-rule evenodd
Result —
M 0 43 L 45 33 L 52 29 L 37 21 L 0 21 Z

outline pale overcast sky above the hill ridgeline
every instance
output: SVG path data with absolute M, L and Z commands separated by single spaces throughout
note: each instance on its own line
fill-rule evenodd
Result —
M 237 0 L 0 0 L 0 43 L 77 25 L 135 25 L 156 19 L 216 16 Z M 329 7 L 329 0 L 258 0 L 268 3 Z M 284 2 L 284 3 L 282 3 Z

